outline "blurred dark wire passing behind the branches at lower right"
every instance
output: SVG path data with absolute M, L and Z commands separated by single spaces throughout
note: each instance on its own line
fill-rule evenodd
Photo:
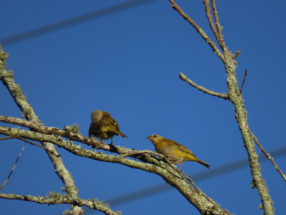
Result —
M 270 151 L 269 154 L 271 155 L 271 157 L 275 157 L 275 158 L 286 155 L 286 146 L 278 148 L 278 149 L 274 149 L 274 150 Z M 259 157 L 260 162 L 264 162 L 267 160 L 268 159 L 265 156 L 260 155 L 260 157 Z M 214 167 L 210 170 L 201 171 L 201 172 L 196 173 L 194 175 L 191 175 L 189 177 L 191 177 L 193 181 L 198 182 L 198 181 L 202 181 L 204 179 L 209 179 L 210 177 L 215 177 L 217 175 L 229 173 L 231 171 L 235 171 L 237 169 L 241 169 L 241 168 L 247 167 L 247 166 L 249 166 L 249 160 L 248 160 L 248 158 L 244 158 L 244 159 L 239 159 L 239 160 L 233 161 L 231 163 L 220 165 L 218 167 Z M 123 194 L 120 196 L 116 196 L 116 197 L 107 199 L 104 202 L 107 202 L 111 207 L 113 207 L 116 205 L 120 205 L 120 204 L 124 204 L 124 203 L 131 202 L 134 200 L 142 199 L 142 198 L 145 198 L 148 196 L 152 196 L 152 195 L 157 194 L 157 193 L 168 191 L 170 189 L 175 189 L 175 188 L 170 186 L 169 184 L 166 184 L 166 183 L 159 183 L 156 185 L 152 185 L 150 187 L 138 189 L 138 190 L 130 192 L 130 193 L 126 193 L 126 194 Z M 85 208 L 85 207 L 83 207 L 83 208 Z M 91 209 L 88 210 L 88 209 L 89 208 L 87 208 L 87 207 L 84 209 L 85 214 L 91 213 L 91 212 L 94 212 L 94 213 L 97 212 L 95 210 L 91 210 Z

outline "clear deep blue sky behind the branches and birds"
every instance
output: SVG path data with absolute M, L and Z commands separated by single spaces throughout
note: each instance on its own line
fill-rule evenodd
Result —
M 0 41 L 123 2 L 5 1 L 1 3 L 5 19 Z M 176 3 L 215 41 L 202 1 Z M 217 1 L 226 45 L 233 53 L 241 50 L 236 58 L 239 88 L 245 69 L 249 73 L 243 88 L 248 123 L 267 152 L 285 149 L 285 6 L 284 1 Z M 209 170 L 185 162 L 181 169 L 190 178 L 247 159 L 232 103 L 179 79 L 182 72 L 198 85 L 227 92 L 223 63 L 168 1 L 148 2 L 27 40 L 2 43 L 2 47 L 9 53 L 6 63 L 15 72 L 15 82 L 46 126 L 63 128 L 77 123 L 87 136 L 92 111 L 108 111 L 129 137 L 114 137 L 114 145 L 154 150 L 146 137 L 156 133 L 186 146 L 210 165 Z M 0 92 L 0 114 L 21 118 L 3 85 Z M 24 145 L 1 192 L 34 196 L 59 192 L 63 183 L 45 151 L 17 140 L 1 141 L 1 181 Z M 58 152 L 72 173 L 80 198 L 107 201 L 165 184 L 159 176 L 138 169 L 76 157 L 62 148 Z M 259 159 L 262 157 L 259 152 Z M 285 154 L 274 158 L 285 173 Z M 261 162 L 261 173 L 276 214 L 283 214 L 285 182 L 269 161 Z M 231 213 L 262 214 L 259 194 L 250 189 L 251 179 L 249 166 L 245 166 L 194 182 Z M 3 199 L 0 205 L 3 214 L 61 214 L 69 209 L 69 205 L 47 207 Z M 123 214 L 198 214 L 172 188 L 111 208 Z

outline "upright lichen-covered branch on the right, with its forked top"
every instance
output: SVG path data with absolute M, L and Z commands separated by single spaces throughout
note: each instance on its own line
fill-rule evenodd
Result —
M 173 0 L 169 0 L 172 3 L 172 7 L 182 15 L 184 19 L 190 22 L 190 24 L 197 30 L 197 32 L 204 38 L 204 34 L 202 34 L 201 30 L 199 27 L 194 23 L 194 21 L 186 15 L 178 5 Z M 247 112 L 244 109 L 243 105 L 243 99 L 242 95 L 239 94 L 239 90 L 237 87 L 237 78 L 236 78 L 236 62 L 234 60 L 233 55 L 231 52 L 228 50 L 227 46 L 225 45 L 225 41 L 223 39 L 223 35 L 221 32 L 221 25 L 219 23 L 219 18 L 217 14 L 217 8 L 215 5 L 215 0 L 212 0 L 212 9 L 214 11 L 214 16 L 215 16 L 215 21 L 216 21 L 216 26 L 217 26 L 217 31 L 214 30 L 214 26 L 212 24 L 212 19 L 210 18 L 210 9 L 208 8 L 208 1 L 204 0 L 204 5 L 205 5 L 205 11 L 206 15 L 209 20 L 210 27 L 217 38 L 219 36 L 219 44 L 221 46 L 221 49 L 223 50 L 223 54 L 220 52 L 216 51 L 216 47 L 213 45 L 212 42 L 210 42 L 208 39 L 205 39 L 208 44 L 213 48 L 216 54 L 223 60 L 225 64 L 225 70 L 227 72 L 227 89 L 228 89 L 228 95 L 225 95 L 225 99 L 228 99 L 231 101 L 235 107 L 235 118 L 237 119 L 237 123 L 239 125 L 239 130 L 241 131 L 241 135 L 243 138 L 244 146 L 247 150 L 247 154 L 249 157 L 249 163 L 250 163 L 250 168 L 251 168 L 251 174 L 253 176 L 253 184 L 255 187 L 257 187 L 257 191 L 260 195 L 261 202 L 262 202 L 262 207 L 265 212 L 265 214 L 274 214 L 274 209 L 273 209 L 273 202 L 271 200 L 271 197 L 268 193 L 268 189 L 265 185 L 265 181 L 262 179 L 261 172 L 260 172 L 260 165 L 257 159 L 257 153 L 255 151 L 254 146 L 252 145 L 252 136 L 251 132 L 249 132 L 248 124 L 247 124 Z M 240 52 L 239 52 L 240 53 Z M 182 73 L 180 75 L 180 78 L 182 77 Z M 182 79 L 182 78 L 181 78 Z M 186 79 L 184 81 L 187 81 L 190 85 L 193 87 L 196 87 L 197 89 L 204 91 L 205 93 L 208 92 L 208 94 L 213 95 L 211 91 L 208 91 L 207 89 L 200 87 L 196 84 L 194 84 L 192 81 Z M 220 97 L 219 95 L 216 95 Z

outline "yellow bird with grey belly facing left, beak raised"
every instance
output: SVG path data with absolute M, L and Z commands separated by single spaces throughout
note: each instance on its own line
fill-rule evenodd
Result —
M 184 161 L 196 161 L 208 169 L 210 168 L 210 165 L 204 163 L 204 161 L 201 161 L 200 159 L 197 159 L 189 149 L 187 149 L 185 146 L 182 146 L 181 144 L 178 144 L 174 140 L 165 139 L 158 134 L 153 134 L 146 138 L 151 140 L 155 146 L 156 152 L 165 155 L 165 157 L 171 163 L 181 163 L 181 167 Z

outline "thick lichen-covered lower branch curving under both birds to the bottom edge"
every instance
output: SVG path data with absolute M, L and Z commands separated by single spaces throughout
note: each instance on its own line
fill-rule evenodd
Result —
M 180 191 L 180 193 L 182 193 L 182 195 L 191 204 L 193 204 L 200 212 L 210 210 L 214 214 L 215 213 L 229 214 L 229 212 L 227 212 L 226 210 L 221 209 L 216 202 L 209 201 L 210 198 L 205 198 L 205 196 L 202 194 L 200 190 L 193 188 L 192 185 L 188 183 L 180 173 L 174 171 L 174 169 L 171 166 L 169 166 L 167 163 L 163 161 L 160 161 L 160 159 L 158 160 L 154 158 L 154 156 L 151 156 L 149 153 L 143 153 L 143 154 L 139 153 L 138 156 L 136 156 L 136 153 L 134 153 L 133 155 L 132 153 L 128 155 L 128 156 L 134 156 L 136 159 L 145 162 L 142 163 L 139 161 L 126 159 L 124 156 L 121 155 L 119 156 L 106 155 L 102 152 L 97 152 L 88 150 L 86 148 L 82 148 L 82 146 L 75 145 L 72 141 L 64 140 L 60 135 L 44 134 L 18 128 L 8 128 L 6 126 L 0 126 L 0 134 L 6 136 L 21 136 L 22 138 L 34 141 L 50 142 L 64 148 L 65 150 L 73 153 L 74 155 L 87 157 L 97 161 L 119 163 L 128 167 L 142 169 L 150 173 L 155 173 L 157 175 L 160 175 L 167 183 L 178 189 L 178 191 Z M 76 135 L 80 134 L 74 134 L 73 136 Z M 84 140 L 81 141 L 84 142 Z M 130 153 L 132 151 L 130 149 L 123 150 L 122 148 L 124 147 L 117 147 L 117 146 L 112 146 L 112 147 L 115 149 L 118 148 L 117 151 L 124 152 L 122 153 L 123 155 L 126 155 L 126 153 Z M 154 154 L 156 155 L 156 153 Z

